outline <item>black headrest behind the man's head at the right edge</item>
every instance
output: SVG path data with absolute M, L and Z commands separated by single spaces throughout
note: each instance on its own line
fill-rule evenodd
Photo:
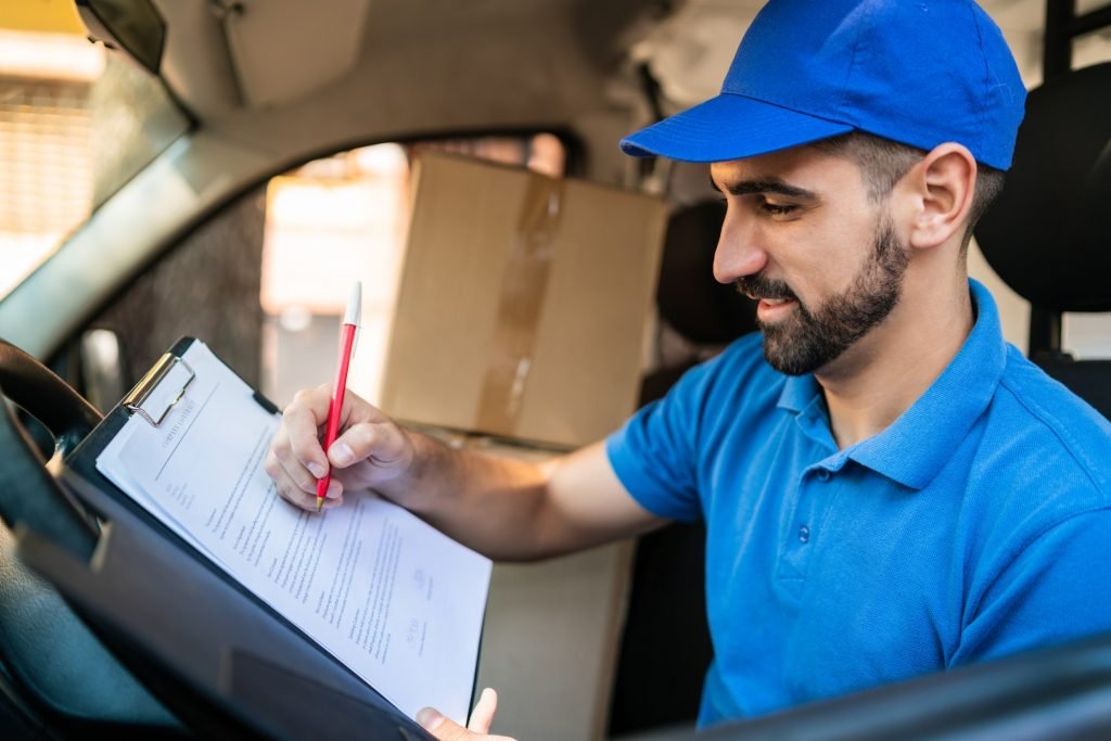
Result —
M 1030 92 L 1014 164 L 975 238 L 1035 307 L 1111 310 L 1111 62 Z

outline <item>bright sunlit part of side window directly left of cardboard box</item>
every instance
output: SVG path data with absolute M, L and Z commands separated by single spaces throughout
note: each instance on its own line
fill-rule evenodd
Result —
M 270 181 L 261 300 L 270 320 L 263 372 L 276 395 L 291 393 L 286 381 L 297 371 L 289 367 L 303 367 L 304 353 L 323 352 L 331 362 L 331 329 L 357 280 L 363 286 L 362 329 L 352 378 L 363 392 L 378 388 L 381 364 L 374 360 L 392 317 L 408 181 L 409 164 L 396 144 L 317 160 Z M 291 354 L 279 359 L 279 350 Z

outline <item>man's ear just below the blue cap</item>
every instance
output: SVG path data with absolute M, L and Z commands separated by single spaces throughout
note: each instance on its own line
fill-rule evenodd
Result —
M 940 247 L 954 236 L 963 241 L 975 190 L 972 152 L 952 142 L 939 144 L 908 176 L 901 184 L 912 196 L 911 247 Z

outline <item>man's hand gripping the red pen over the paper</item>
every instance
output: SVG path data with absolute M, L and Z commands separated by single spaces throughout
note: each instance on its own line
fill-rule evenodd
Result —
M 331 383 L 298 392 L 267 454 L 266 470 L 278 484 L 278 493 L 310 512 L 317 509 L 317 481 L 329 468 L 332 480 L 324 507 L 338 507 L 344 491 L 402 477 L 414 457 L 408 433 L 350 391 L 340 413 L 340 435 L 326 455 L 320 434 L 331 397 Z

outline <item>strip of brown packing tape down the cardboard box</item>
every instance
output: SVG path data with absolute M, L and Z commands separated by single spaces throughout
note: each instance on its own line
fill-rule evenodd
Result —
M 493 344 L 479 401 L 480 430 L 517 430 L 562 208 L 563 181 L 530 174 L 501 282 Z

